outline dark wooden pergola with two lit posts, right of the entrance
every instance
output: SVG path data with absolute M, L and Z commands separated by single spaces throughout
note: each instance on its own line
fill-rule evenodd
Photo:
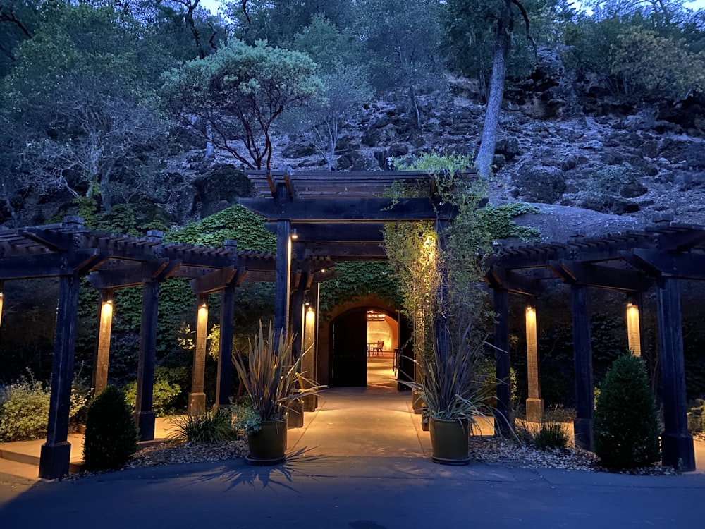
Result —
M 641 352 L 642 293 L 656 286 L 658 353 L 663 384 L 665 431 L 661 436 L 663 464 L 694 470 L 693 439 L 687 430 L 685 363 L 681 329 L 679 279 L 705 279 L 705 226 L 659 224 L 645 231 L 596 238 L 574 237 L 567 243 L 503 248 L 491 259 L 485 276 L 494 289 L 497 315 L 495 345 L 497 376 L 508 379 L 508 295 L 526 296 L 527 366 L 529 399 L 527 416 L 541 417 L 534 300 L 546 281 L 570 285 L 575 363 L 574 423 L 576 446 L 592 449 L 594 393 L 587 288 L 608 288 L 626 293 L 627 336 L 630 349 Z M 504 413 L 510 406 L 508 384 L 499 389 Z

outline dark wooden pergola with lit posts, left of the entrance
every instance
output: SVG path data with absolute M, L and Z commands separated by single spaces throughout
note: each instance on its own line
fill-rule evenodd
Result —
M 309 256 L 294 259 L 290 265 L 293 270 L 290 284 L 298 285 L 302 276 L 308 281 L 331 277 L 333 262 L 327 257 Z M 82 276 L 87 276 L 90 284 L 100 292 L 99 336 L 93 374 L 96 393 L 102 391 L 107 382 L 114 291 L 142 286 L 135 421 L 140 440 L 144 441 L 154 439 L 152 391 L 161 281 L 170 277 L 188 278 L 197 295 L 196 350 L 189 396 L 190 411 L 197 413 L 205 408 L 208 294 L 221 292 L 216 403 L 228 405 L 234 289 L 243 281 L 274 281 L 276 260 L 270 253 L 238 251 L 235 241 L 226 241 L 222 248 L 209 248 L 164 244 L 161 231 L 149 231 L 147 237 L 89 231 L 80 217 L 66 217 L 61 224 L 0 230 L 0 286 L 7 280 L 59 278 L 49 426 L 39 461 L 41 478 L 58 478 L 69 469 L 68 419 Z M 2 302 L 0 288 L 0 310 Z

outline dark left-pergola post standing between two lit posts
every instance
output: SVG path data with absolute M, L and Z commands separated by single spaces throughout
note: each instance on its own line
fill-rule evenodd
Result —
M 142 323 L 140 324 L 140 360 L 137 364 L 137 401 L 135 422 L 140 429 L 140 441 L 154 439 L 154 360 L 157 348 L 157 318 L 159 315 L 159 281 L 152 279 L 142 287 Z

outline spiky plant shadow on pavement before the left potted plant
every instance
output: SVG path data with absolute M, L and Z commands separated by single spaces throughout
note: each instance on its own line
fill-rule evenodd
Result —
M 286 455 L 286 461 L 273 466 L 240 466 L 233 469 L 214 468 L 212 472 L 206 473 L 196 481 L 224 480 L 228 482 L 228 489 L 234 489 L 238 485 L 250 485 L 253 489 L 281 487 L 286 490 L 298 492 L 291 485 L 292 477 L 297 469 L 310 468 L 317 463 L 326 465 L 327 456 L 307 455 L 309 451 L 317 448 L 302 448 Z M 259 483 L 258 483 L 259 482 Z M 261 484 L 261 485 L 260 485 Z

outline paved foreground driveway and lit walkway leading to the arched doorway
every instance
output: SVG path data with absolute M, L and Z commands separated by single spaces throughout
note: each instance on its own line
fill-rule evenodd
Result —
M 326 391 L 305 426 L 289 430 L 290 457 L 280 466 L 231 460 L 54 482 L 0 474 L 0 526 L 608 529 L 699 527 L 705 519 L 705 473 L 431 463 L 409 394 L 384 377 L 369 382 Z

